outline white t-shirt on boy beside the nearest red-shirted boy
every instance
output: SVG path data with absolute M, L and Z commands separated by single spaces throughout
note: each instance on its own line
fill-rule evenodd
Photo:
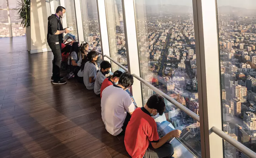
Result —
M 126 115 L 135 110 L 130 95 L 117 85 L 110 85 L 102 91 L 100 106 L 105 128 L 114 136 L 123 131 Z

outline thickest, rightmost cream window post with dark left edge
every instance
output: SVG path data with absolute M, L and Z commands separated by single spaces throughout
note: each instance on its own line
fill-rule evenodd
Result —
M 200 113 L 201 154 L 222 158 L 223 141 L 211 131 L 222 129 L 220 64 L 215 0 L 193 0 Z

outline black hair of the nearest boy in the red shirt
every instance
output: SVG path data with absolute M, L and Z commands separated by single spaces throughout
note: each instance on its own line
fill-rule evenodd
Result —
M 156 109 L 160 115 L 163 115 L 165 108 L 164 98 L 158 94 L 154 94 L 147 101 L 147 106 L 150 109 Z

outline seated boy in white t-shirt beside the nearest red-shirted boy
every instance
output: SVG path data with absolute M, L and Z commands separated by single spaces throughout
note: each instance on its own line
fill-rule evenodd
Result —
M 101 118 L 106 130 L 116 136 L 124 135 L 126 126 L 136 106 L 125 91 L 133 84 L 133 76 L 125 72 L 117 85 L 107 86 L 102 91 Z

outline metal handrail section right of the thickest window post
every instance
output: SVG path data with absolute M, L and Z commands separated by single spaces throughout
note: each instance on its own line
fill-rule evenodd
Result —
M 241 151 L 243 154 L 245 154 L 245 155 L 247 155 L 247 156 L 249 156 L 251 158 L 256 157 L 256 153 L 255 152 L 253 152 L 251 149 L 247 148 L 242 143 L 236 141 L 235 139 L 233 139 L 231 136 L 229 136 L 228 134 L 226 134 L 225 132 L 223 132 L 219 128 L 213 126 L 212 127 L 212 131 L 215 134 L 219 135 L 223 140 L 227 141 L 229 144 L 234 146 L 236 149 Z

